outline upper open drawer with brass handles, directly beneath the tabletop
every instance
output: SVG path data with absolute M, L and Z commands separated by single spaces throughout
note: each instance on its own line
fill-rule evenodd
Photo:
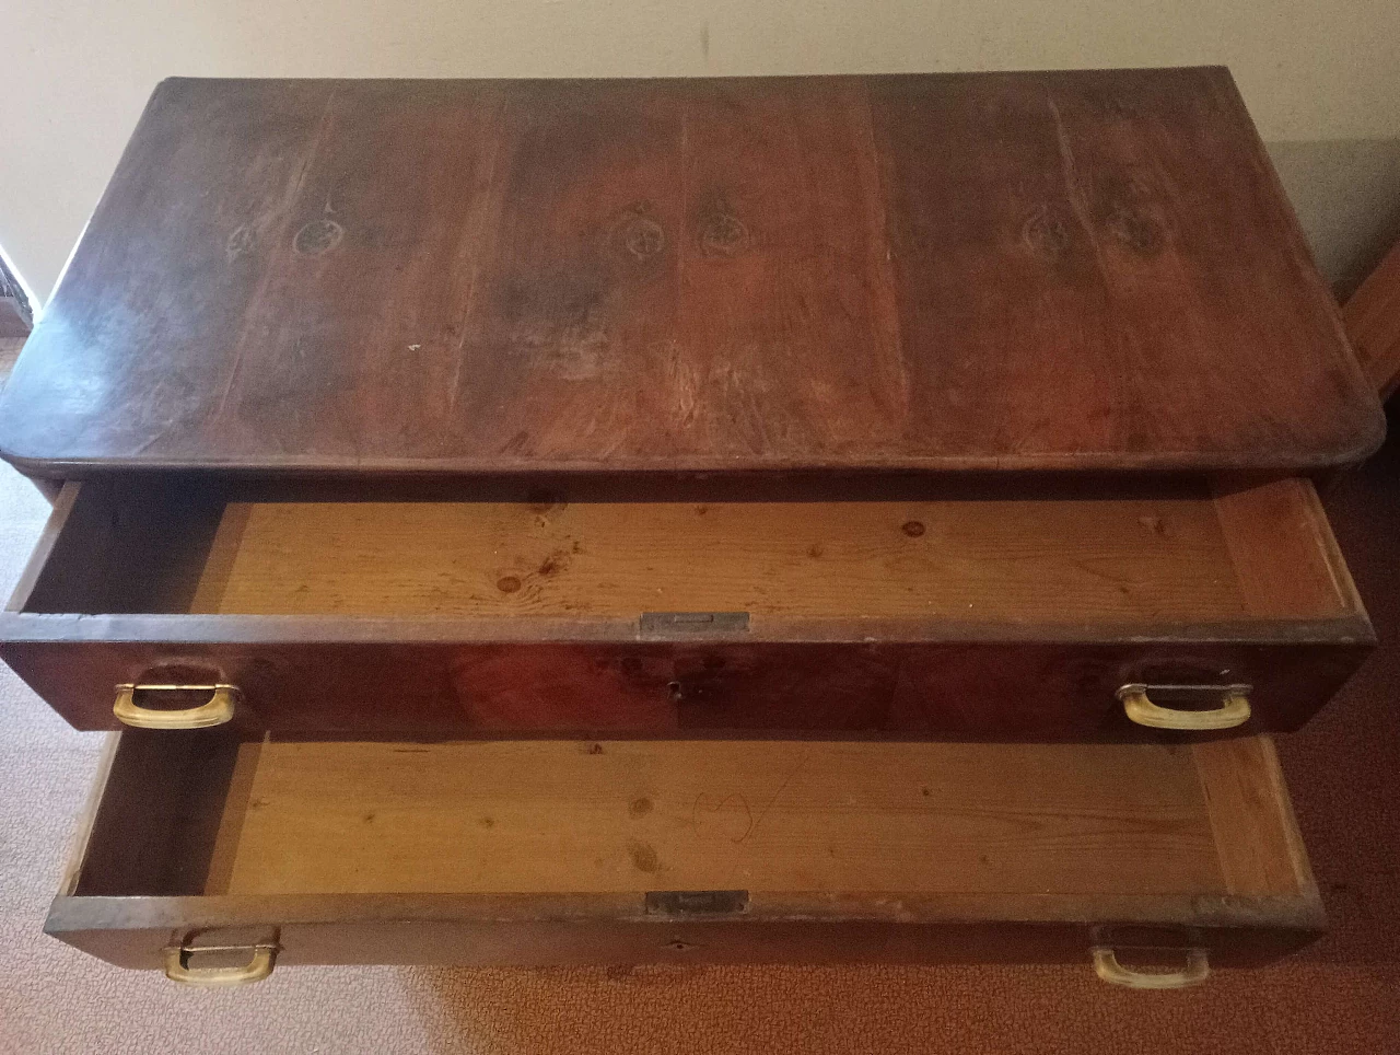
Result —
M 1294 729 L 1373 643 L 1302 479 L 511 488 L 69 483 L 0 657 L 78 729 L 1044 741 Z

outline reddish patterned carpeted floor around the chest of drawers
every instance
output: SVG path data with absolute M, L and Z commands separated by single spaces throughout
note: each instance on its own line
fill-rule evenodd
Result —
M 1400 1052 L 1400 443 L 1329 497 L 1382 650 L 1281 741 L 1331 933 L 1261 971 L 1138 993 L 1075 967 L 686 971 L 287 968 L 182 989 L 42 933 L 97 762 L 0 668 L 0 1051 Z M 0 469 L 0 590 L 48 511 Z

